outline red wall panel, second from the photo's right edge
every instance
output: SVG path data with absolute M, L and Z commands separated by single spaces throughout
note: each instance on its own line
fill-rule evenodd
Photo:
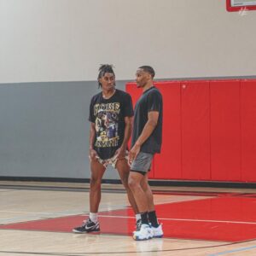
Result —
M 240 81 L 211 81 L 212 180 L 241 180 Z

